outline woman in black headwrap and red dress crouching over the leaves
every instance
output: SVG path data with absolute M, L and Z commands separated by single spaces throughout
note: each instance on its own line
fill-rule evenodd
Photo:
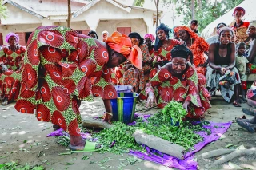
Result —
M 158 73 L 146 85 L 140 97 L 146 106 L 153 106 L 154 101 L 163 108 L 169 101 L 180 101 L 190 118 L 202 117 L 211 107 L 206 78 L 198 74 L 188 58 L 193 55 L 186 45 L 176 45 L 171 50 L 172 60 L 158 70 Z

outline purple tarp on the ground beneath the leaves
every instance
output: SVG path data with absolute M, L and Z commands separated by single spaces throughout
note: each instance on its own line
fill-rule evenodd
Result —
M 143 121 L 147 122 L 147 118 L 149 118 L 150 115 L 142 115 L 140 113 L 135 113 L 134 117 L 142 117 Z M 129 125 L 135 124 L 136 121 L 130 123 Z M 210 122 L 210 125 L 204 125 L 205 128 L 211 129 L 211 134 L 207 136 L 206 132 L 198 132 L 198 134 L 203 137 L 203 140 L 202 142 L 199 142 L 198 144 L 194 145 L 193 151 L 186 153 L 186 155 L 184 156 L 184 160 L 178 160 L 178 158 L 175 158 L 174 156 L 163 154 L 162 152 L 150 149 L 147 146 L 146 153 L 130 150 L 130 155 L 137 156 L 140 159 L 149 160 L 157 164 L 162 164 L 169 168 L 178 168 L 182 170 L 196 170 L 198 163 L 193 160 L 194 153 L 200 151 L 204 146 L 206 146 L 206 144 L 210 144 L 211 142 L 218 140 L 222 136 L 222 134 L 225 133 L 228 128 L 230 128 L 231 124 L 232 123 L 230 121 L 227 123 Z M 68 136 L 68 133 L 65 132 L 65 135 Z M 63 136 L 62 128 L 54 132 L 51 132 L 49 135 L 47 135 L 47 137 L 49 136 Z M 90 133 L 81 133 L 81 136 L 84 139 L 91 138 Z

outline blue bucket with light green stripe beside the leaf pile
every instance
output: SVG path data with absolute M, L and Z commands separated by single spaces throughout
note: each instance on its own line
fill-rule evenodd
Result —
M 113 120 L 129 124 L 134 121 L 137 93 L 118 93 L 118 98 L 111 99 Z

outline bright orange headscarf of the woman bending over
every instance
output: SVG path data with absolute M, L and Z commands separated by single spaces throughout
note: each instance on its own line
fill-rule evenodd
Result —
M 105 42 L 111 49 L 130 60 L 135 67 L 142 69 L 142 50 L 137 45 L 132 46 L 130 38 L 126 34 L 114 31 L 110 37 L 106 38 Z

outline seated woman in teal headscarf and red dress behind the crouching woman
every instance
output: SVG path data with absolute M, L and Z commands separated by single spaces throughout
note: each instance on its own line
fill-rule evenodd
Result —
M 163 23 L 161 23 L 156 30 L 157 38 L 154 43 L 154 69 L 150 71 L 151 78 L 158 72 L 158 69 L 170 62 L 171 49 L 173 49 L 175 45 L 181 44 L 181 42 L 176 39 L 169 39 L 169 33 L 171 32 L 171 29 Z

